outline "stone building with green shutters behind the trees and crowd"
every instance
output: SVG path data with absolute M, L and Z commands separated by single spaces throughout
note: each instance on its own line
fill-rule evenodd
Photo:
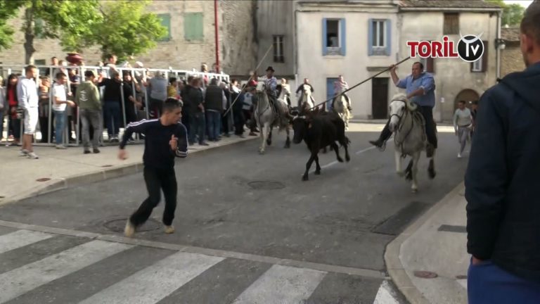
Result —
M 142 61 L 145 67 L 191 70 L 199 69 L 207 63 L 211 69 L 216 62 L 214 1 L 170 0 L 153 1 L 148 11 L 158 14 L 162 25 L 167 27 L 168 37 L 158 42 L 154 49 L 136 56 L 134 61 Z M 24 41 L 20 27 L 23 13 L 9 22 L 15 27 L 14 42 L 11 49 L 0 53 L 0 62 L 23 64 Z M 253 15 L 255 1 L 219 0 L 219 61 L 221 70 L 229 75 L 248 75 L 255 66 L 257 49 Z M 65 58 L 66 53 L 56 39 L 34 40 L 34 63 L 49 64 L 50 58 Z M 101 60 L 99 48 L 93 47 L 82 54 L 86 65 L 95 65 Z

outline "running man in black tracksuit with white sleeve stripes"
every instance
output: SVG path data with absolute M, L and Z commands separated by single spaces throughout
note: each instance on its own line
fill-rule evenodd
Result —
M 165 196 L 165 212 L 163 224 L 165 233 L 172 234 L 172 220 L 176 209 L 176 175 L 174 175 L 174 158 L 188 156 L 188 137 L 186 127 L 181 124 L 182 103 L 178 99 L 169 98 L 165 101 L 159 119 L 141 120 L 130 123 L 120 142 L 118 158 L 124 160 L 127 153 L 124 150 L 127 140 L 134 132 L 145 135 L 144 141 L 144 181 L 148 190 L 148 198 L 138 210 L 127 220 L 124 234 L 133 236 L 136 227 L 141 226 L 153 208 L 160 202 L 161 190 Z

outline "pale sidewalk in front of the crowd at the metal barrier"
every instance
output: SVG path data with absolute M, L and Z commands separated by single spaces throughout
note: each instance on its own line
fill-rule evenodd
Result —
M 188 154 L 258 138 L 246 136 L 242 139 L 231 135 L 219 142 L 209 142 L 210 146 L 190 146 Z M 98 154 L 83 154 L 82 146 L 66 150 L 34 146 L 39 159 L 32 160 L 19 156 L 20 146 L 1 145 L 0 205 L 68 186 L 141 172 L 144 144 L 128 144 L 126 149 L 127 160 L 119 160 L 117 145 L 100 147 L 101 153 Z

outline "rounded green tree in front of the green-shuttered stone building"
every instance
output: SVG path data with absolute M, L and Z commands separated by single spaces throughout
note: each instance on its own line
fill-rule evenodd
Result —
M 108 1 L 100 8 L 103 22 L 95 29 L 96 44 L 103 58 L 114 53 L 119 61 L 152 49 L 167 35 L 167 28 L 154 13 L 145 13 L 150 1 Z

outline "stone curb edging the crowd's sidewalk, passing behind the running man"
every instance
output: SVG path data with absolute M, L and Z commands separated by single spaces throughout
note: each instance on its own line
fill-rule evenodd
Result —
M 258 138 L 259 137 L 246 137 L 244 139 L 237 139 L 234 141 L 228 141 L 228 142 L 218 143 L 212 146 L 207 146 L 202 150 L 193 149 L 193 150 L 188 151 L 188 153 L 193 154 L 193 153 L 208 151 L 214 148 L 230 146 L 232 144 L 238 144 L 243 141 L 250 141 L 250 140 L 258 139 Z M 71 175 L 69 177 L 51 179 L 47 182 L 44 182 L 44 184 L 35 186 L 29 191 L 25 191 L 25 193 L 23 194 L 11 196 L 10 198 L 0 201 L 0 206 L 7 205 L 10 203 L 15 203 L 17 201 L 22 201 L 23 199 L 26 199 L 26 198 L 32 198 L 34 196 L 40 196 L 40 195 L 48 194 L 54 191 L 66 189 L 72 186 L 79 186 L 82 184 L 91 184 L 94 182 L 101 182 L 107 179 L 113 179 L 116 177 L 122 177 L 125 175 L 135 174 L 138 172 L 142 172 L 143 167 L 144 167 L 143 162 L 141 160 L 139 163 L 132 163 L 129 165 L 117 165 L 115 167 L 108 167 L 108 168 L 103 168 L 103 169 L 100 168 L 95 171 L 86 172 L 79 175 Z

